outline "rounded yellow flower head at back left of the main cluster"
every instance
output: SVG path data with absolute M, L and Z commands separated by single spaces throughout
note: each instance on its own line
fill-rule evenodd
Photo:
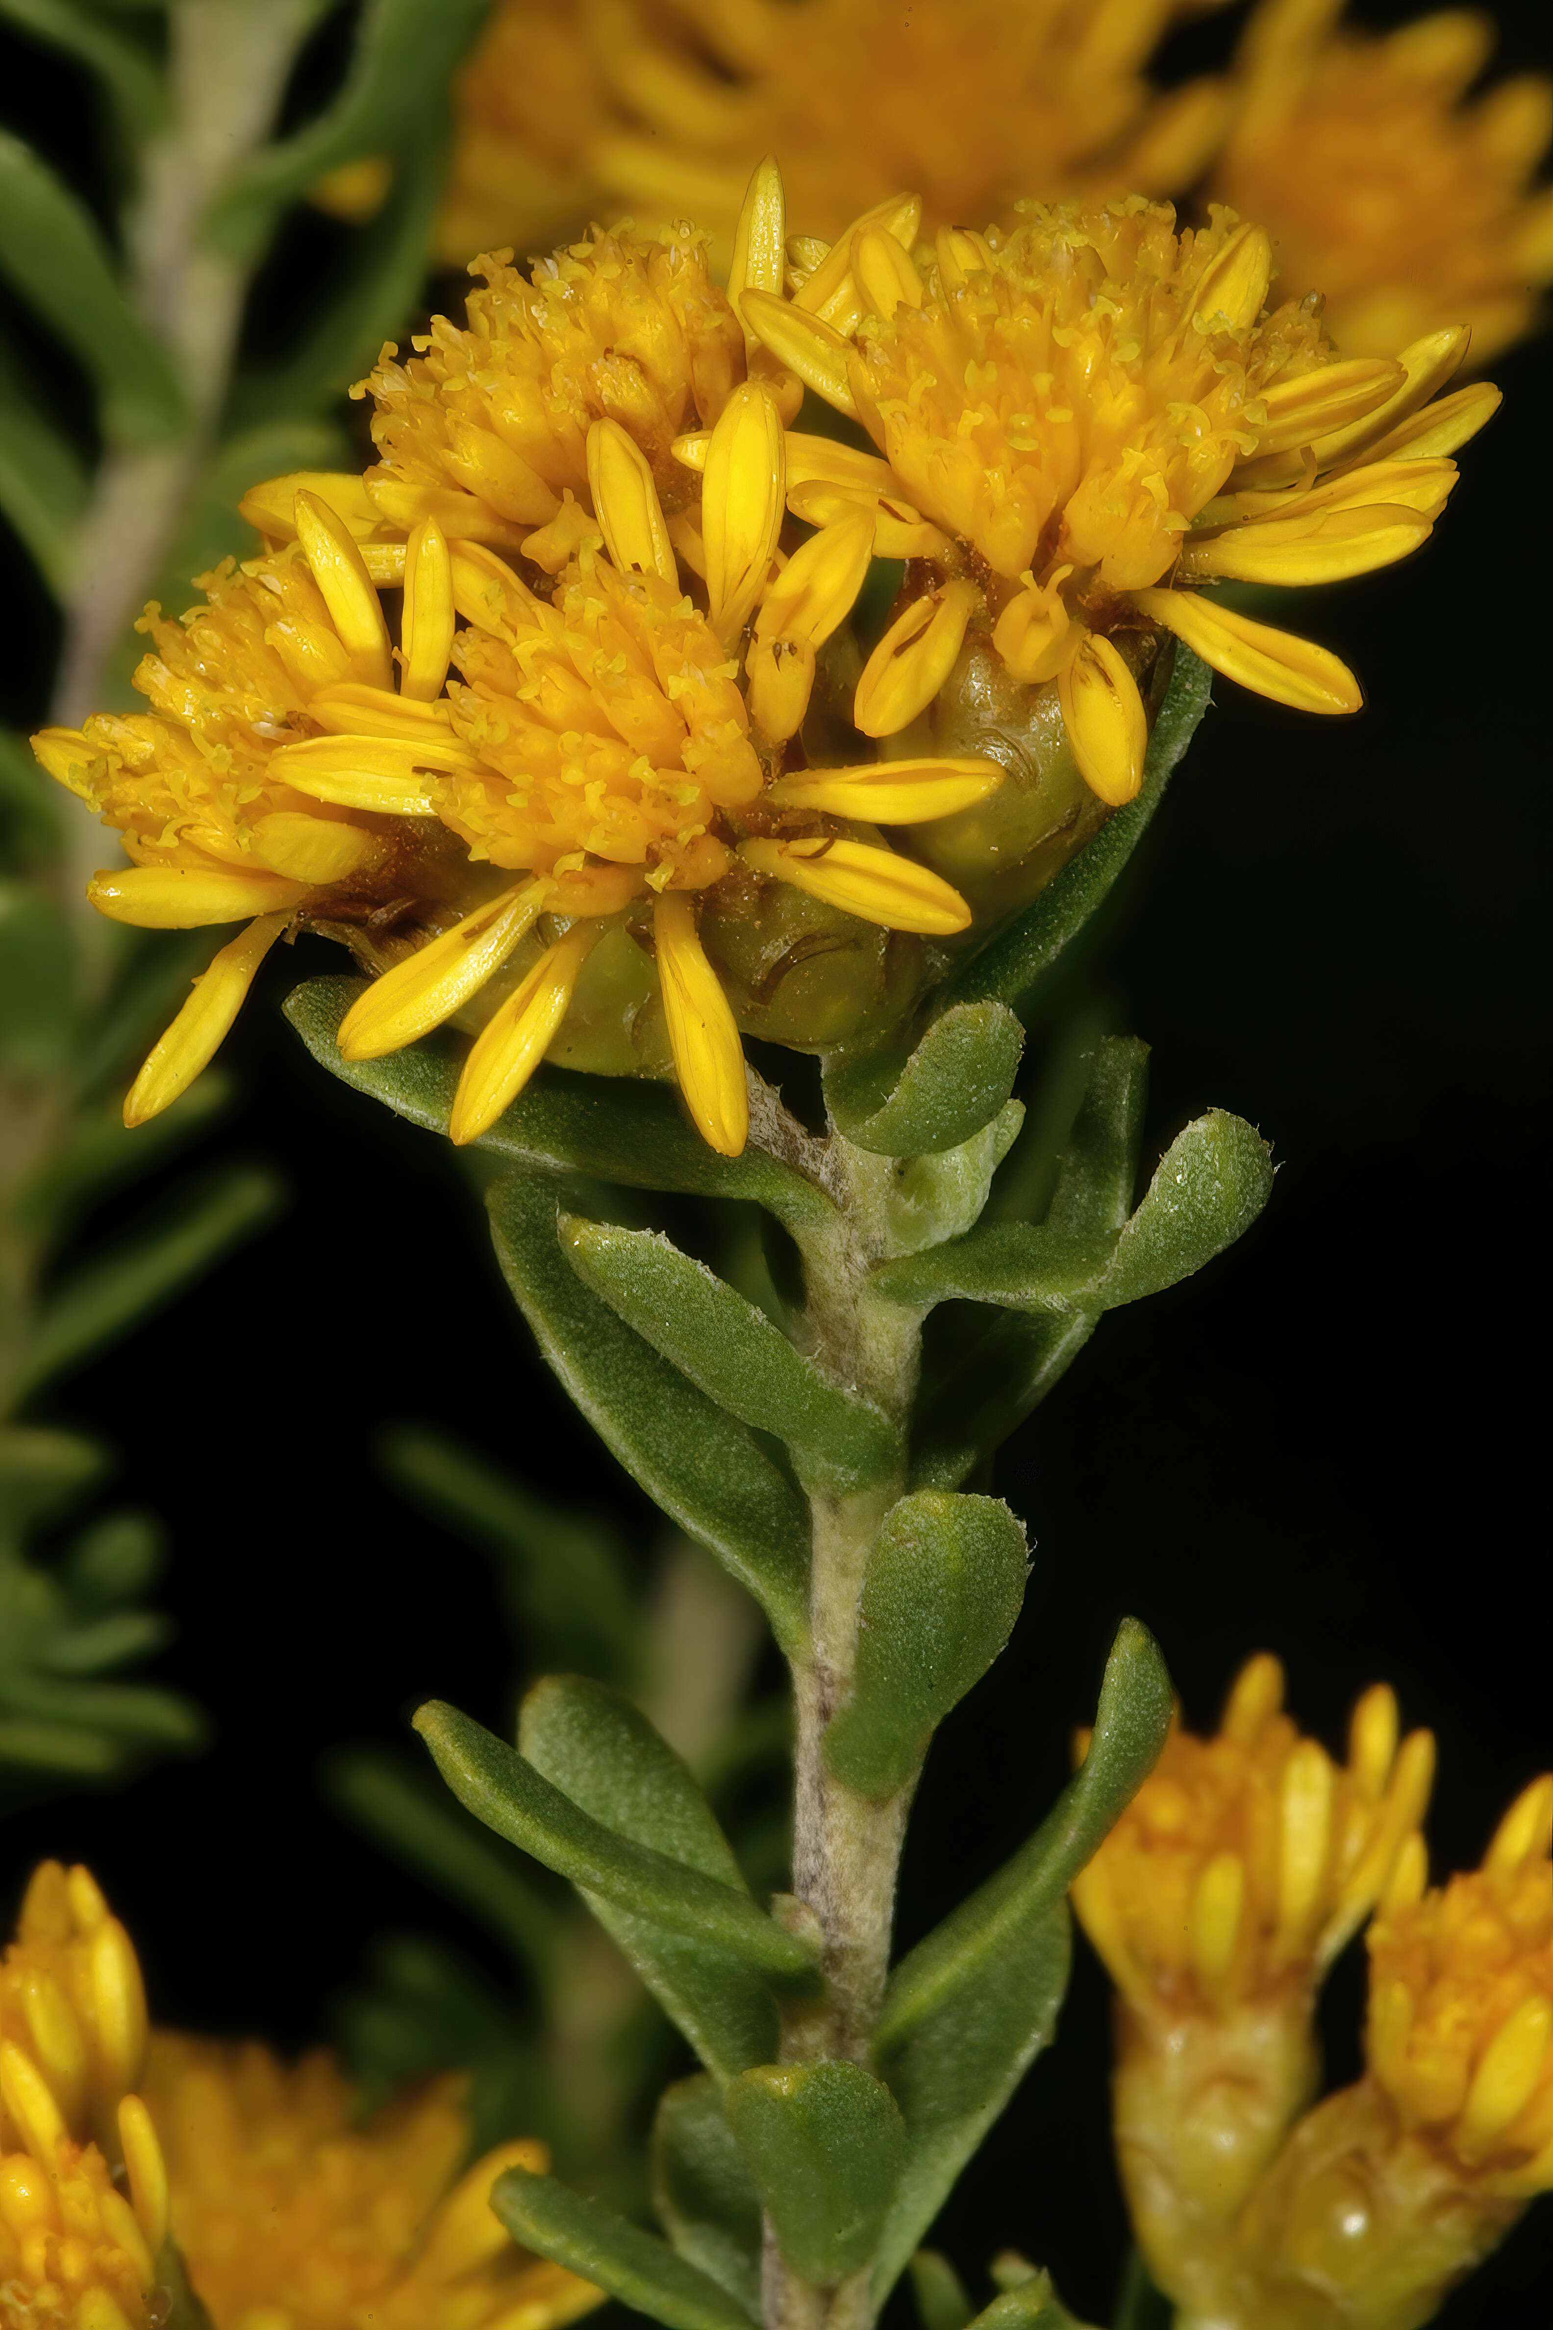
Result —
M 745 377 L 745 336 L 692 226 L 629 226 L 540 259 L 531 280 L 505 254 L 475 259 L 468 326 L 435 317 L 407 363 L 391 352 L 359 394 L 375 403 L 380 461 L 366 485 L 398 527 L 435 515 L 449 538 L 517 550 L 561 515 L 591 508 L 589 429 L 617 422 L 659 499 L 689 501 L 668 447 L 710 424 Z

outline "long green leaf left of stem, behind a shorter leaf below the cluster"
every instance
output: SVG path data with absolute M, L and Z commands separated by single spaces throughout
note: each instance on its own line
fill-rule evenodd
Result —
M 577 1279 L 554 1184 L 501 1181 L 496 1256 L 540 1351 L 647 1496 L 754 1594 L 789 1657 L 808 1640 L 808 1514 L 733 1417 L 659 1358 Z

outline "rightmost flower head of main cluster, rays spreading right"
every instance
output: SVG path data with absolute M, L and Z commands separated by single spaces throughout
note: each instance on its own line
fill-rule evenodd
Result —
M 880 205 L 829 252 L 789 245 L 789 296 L 740 312 L 773 356 L 864 424 L 845 473 L 789 443 L 794 508 L 873 508 L 875 548 L 917 559 L 854 697 L 868 736 L 929 708 L 966 634 L 1015 680 L 1055 680 L 1078 767 L 1132 799 L 1148 722 L 1129 638 L 1173 631 L 1227 678 L 1304 711 L 1355 711 L 1325 648 L 1199 585 L 1332 582 L 1404 557 L 1455 482 L 1446 454 L 1492 389 L 1423 410 L 1467 333 L 1402 359 L 1339 359 L 1318 303 L 1267 308 L 1262 228 L 1169 207 L 1024 205 L 985 235 Z M 829 466 L 824 466 L 829 459 Z

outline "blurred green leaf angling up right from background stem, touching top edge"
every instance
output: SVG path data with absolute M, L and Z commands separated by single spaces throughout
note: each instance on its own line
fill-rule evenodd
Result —
M 210 240 L 235 256 L 254 256 L 279 212 L 326 170 L 414 140 L 487 7 L 489 0 L 368 0 L 338 100 L 237 172 L 207 214 Z

